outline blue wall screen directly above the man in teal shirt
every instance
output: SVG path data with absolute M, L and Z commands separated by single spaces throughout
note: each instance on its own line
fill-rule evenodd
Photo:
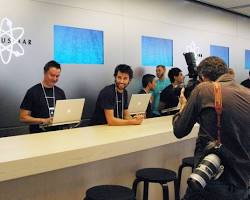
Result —
M 173 40 L 142 36 L 142 65 L 173 66 Z

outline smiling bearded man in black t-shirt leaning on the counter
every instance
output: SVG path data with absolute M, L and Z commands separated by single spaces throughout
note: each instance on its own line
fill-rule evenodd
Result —
M 103 88 L 97 98 L 91 125 L 136 125 L 143 121 L 142 115 L 132 118 L 128 112 L 128 93 L 125 89 L 133 78 L 130 66 L 121 64 L 115 68 L 115 84 Z

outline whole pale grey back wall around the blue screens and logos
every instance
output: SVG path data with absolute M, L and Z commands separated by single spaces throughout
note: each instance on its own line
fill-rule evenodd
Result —
M 230 47 L 230 67 L 237 81 L 247 77 L 245 49 L 250 49 L 250 20 L 184 0 L 0 0 L 0 20 L 8 17 L 32 39 L 25 55 L 0 61 L 0 127 L 19 126 L 18 109 L 26 90 L 42 79 L 53 59 L 53 25 L 104 31 L 104 65 L 63 65 L 59 86 L 68 98 L 86 97 L 85 114 L 93 111 L 98 91 L 113 81 L 119 63 L 141 66 L 141 36 L 173 39 L 174 66 L 187 72 L 183 57 L 194 41 L 209 56 L 209 45 Z M 154 67 L 145 67 L 154 73 Z M 130 92 L 140 87 L 133 80 Z

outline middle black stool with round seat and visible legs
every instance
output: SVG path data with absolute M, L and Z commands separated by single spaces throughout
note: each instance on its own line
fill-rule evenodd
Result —
M 133 183 L 133 192 L 136 197 L 137 185 L 144 182 L 143 200 L 148 200 L 149 183 L 159 183 L 163 190 L 163 199 L 169 199 L 168 182 L 174 181 L 175 200 L 179 200 L 177 188 L 177 175 L 174 171 L 163 168 L 144 168 L 136 171 L 136 179 Z

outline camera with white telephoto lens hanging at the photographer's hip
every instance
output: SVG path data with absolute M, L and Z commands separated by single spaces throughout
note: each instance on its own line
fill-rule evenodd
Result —
M 203 159 L 187 180 L 191 190 L 199 191 L 205 188 L 210 180 L 216 180 L 221 176 L 224 171 L 223 148 L 223 145 L 217 144 L 216 141 L 207 144 Z

